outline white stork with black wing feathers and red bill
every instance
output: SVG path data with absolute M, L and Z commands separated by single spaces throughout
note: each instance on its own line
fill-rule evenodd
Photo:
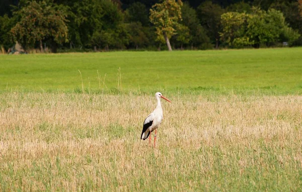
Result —
M 160 92 L 157 92 L 155 94 L 155 97 L 158 100 L 158 106 L 152 113 L 150 113 L 147 116 L 147 118 L 145 118 L 145 120 L 143 122 L 141 136 L 140 136 L 140 139 L 143 139 L 143 140 L 145 140 L 146 138 L 148 138 L 148 136 L 150 136 L 149 137 L 149 143 L 150 143 L 151 142 L 151 132 L 155 130 L 154 147 L 155 147 L 155 142 L 156 142 L 157 128 L 160 126 L 162 119 L 163 119 L 163 109 L 161 106 L 160 98 L 163 98 L 163 99 L 169 101 L 169 99 L 164 97 Z M 171 101 L 169 101 L 169 102 L 171 103 Z

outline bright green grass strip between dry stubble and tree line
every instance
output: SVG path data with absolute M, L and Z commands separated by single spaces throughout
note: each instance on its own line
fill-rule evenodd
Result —
M 0 55 L 0 88 L 11 90 L 302 91 L 302 48 Z M 97 73 L 99 72 L 99 75 Z M 106 88 L 104 86 L 104 88 Z

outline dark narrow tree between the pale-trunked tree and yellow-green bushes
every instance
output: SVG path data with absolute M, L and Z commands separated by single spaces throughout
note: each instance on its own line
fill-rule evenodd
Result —
M 221 30 L 220 16 L 224 13 L 224 10 L 217 4 L 213 4 L 210 1 L 202 3 L 197 8 L 197 14 L 202 26 L 207 29 L 208 36 L 214 40 L 215 48 L 219 46 Z

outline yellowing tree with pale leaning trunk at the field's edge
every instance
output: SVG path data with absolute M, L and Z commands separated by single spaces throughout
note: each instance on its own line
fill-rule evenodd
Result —
M 161 4 L 155 4 L 150 9 L 150 21 L 156 27 L 156 33 L 160 40 L 164 37 L 168 50 L 172 51 L 169 39 L 175 34 L 176 27 L 181 20 L 181 0 L 165 0 Z

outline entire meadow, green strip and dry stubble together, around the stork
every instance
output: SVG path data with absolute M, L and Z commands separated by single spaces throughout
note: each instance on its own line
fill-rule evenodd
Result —
M 0 55 L 0 190 L 298 191 L 301 53 Z

